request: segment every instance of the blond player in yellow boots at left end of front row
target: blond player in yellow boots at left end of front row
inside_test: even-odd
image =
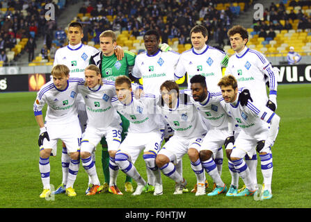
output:
[[[76,196],[73,189],[79,171],[79,149],[81,128],[77,112],[77,88],[82,79],[69,78],[70,69],[56,65],[51,70],[53,80],[41,87],[33,104],[35,120],[40,127],[38,144],[40,146],[39,169],[43,183],[40,198],[51,195],[49,156],[57,149],[61,139],[67,147],[70,163],[64,187],[67,196]],[[47,104],[47,114],[43,121],[42,108]]]

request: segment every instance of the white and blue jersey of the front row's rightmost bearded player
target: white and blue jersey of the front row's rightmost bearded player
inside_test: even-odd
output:
[[[258,140],[266,139],[268,136],[269,125],[275,112],[267,108],[265,105],[248,101],[247,105],[242,106],[239,101],[239,94],[234,103],[225,103],[225,111],[234,119],[234,124],[250,137],[256,137]]]

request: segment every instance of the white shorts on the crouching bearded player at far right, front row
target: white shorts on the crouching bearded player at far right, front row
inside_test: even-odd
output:
[[[264,130],[256,135],[247,135],[244,130],[241,130],[239,136],[235,139],[231,157],[244,158],[246,154],[249,157],[253,157],[256,154],[257,142],[265,140],[267,137],[268,130]],[[264,152],[269,153],[270,150],[267,149]]]

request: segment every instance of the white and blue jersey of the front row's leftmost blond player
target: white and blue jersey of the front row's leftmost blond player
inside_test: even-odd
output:
[[[78,84],[82,81],[81,78],[69,78],[64,90],[57,89],[52,80],[43,85],[33,104],[35,116],[42,114],[42,108],[47,104],[46,122],[70,123],[78,119],[76,99]]]

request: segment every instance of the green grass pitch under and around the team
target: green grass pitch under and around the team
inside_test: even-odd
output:
[[[288,208],[311,207],[311,85],[279,85],[277,114],[281,117],[280,131],[273,146],[273,180],[271,200],[259,201],[253,197],[228,198],[221,194],[214,197],[194,194],[173,195],[174,182],[162,174],[164,194],[152,193],[131,196],[124,191],[125,174],[119,171],[118,186],[124,196],[98,194],[86,196],[88,177],[80,165],[74,188],[77,196],[70,198],[65,194],[54,199],[39,198],[42,182],[38,167],[39,128],[33,116],[35,92],[16,92],[0,94],[0,207],[1,208]],[[101,148],[97,146],[96,164],[99,179],[104,181],[101,162]],[[50,157],[51,184],[57,187],[61,183],[61,143],[58,143],[58,155]],[[145,164],[142,156],[136,167],[146,179]],[[189,190],[196,183],[187,155],[183,159],[184,178]],[[230,185],[227,158],[223,160],[223,181]],[[257,169],[258,182],[262,183],[260,160]],[[209,190],[212,180],[207,175]],[[242,181],[240,181],[240,187]],[[136,182],[134,182],[136,188]]]

